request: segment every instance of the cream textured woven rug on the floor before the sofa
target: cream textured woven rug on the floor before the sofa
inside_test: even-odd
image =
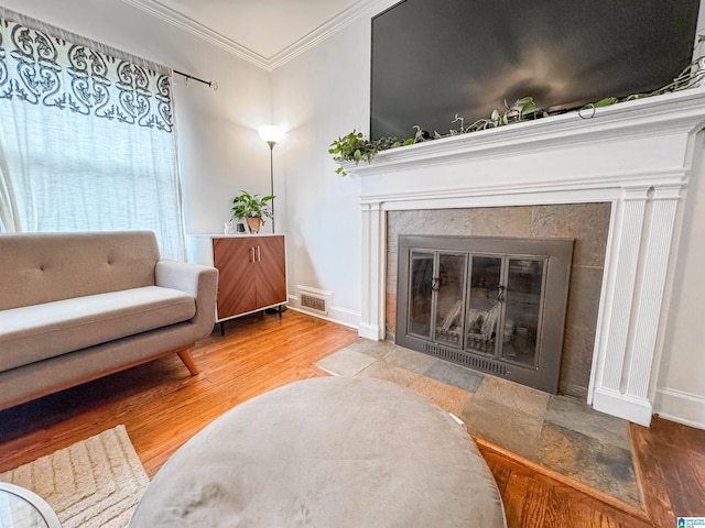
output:
[[[149,477],[124,426],[0,473],[0,481],[33,491],[63,528],[124,528]]]

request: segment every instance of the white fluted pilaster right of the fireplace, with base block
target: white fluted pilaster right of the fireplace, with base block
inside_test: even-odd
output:
[[[618,261],[606,267],[612,275],[606,280],[614,283],[603,298],[603,304],[612,299],[603,326],[609,338],[592,403],[638,424],[648,425],[653,411],[649,382],[681,188],[625,191],[617,211],[620,240],[612,240]]]

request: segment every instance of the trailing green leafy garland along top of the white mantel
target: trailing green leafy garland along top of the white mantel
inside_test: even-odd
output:
[[[702,42],[705,42],[705,35],[698,35],[696,46]],[[648,97],[685,90],[698,86],[703,79],[705,79],[705,56],[699,56],[688,64],[671,82],[658,90],[649,94],[632,94],[622,98],[606,97],[597,102],[590,102],[573,111],[577,112],[577,114],[583,119],[590,119],[595,116],[596,108],[609,107],[611,105],[617,105],[618,102],[633,101],[636,99],[644,99]],[[588,112],[590,113],[588,114]],[[377,153],[388,151],[390,148],[397,148],[399,146],[411,145],[424,141],[440,140],[452,135],[467,134],[478,130],[496,129],[498,127],[547,118],[560,113],[566,112],[564,110],[546,112],[536,106],[533,97],[522,97],[514,101],[513,105],[508,105],[507,101],[505,101],[503,112],[494,110],[489,118],[478,119],[468,127],[465,127],[465,120],[456,113],[452,123],[460,124],[457,129],[449,130],[447,134],[440,134],[437,131],[434,131],[433,135],[430,135],[421,127],[415,124],[413,127],[415,131],[413,138],[403,140],[398,138],[380,138],[379,140],[370,140],[362,134],[362,132],[356,129],[349,134],[338,138],[330,143],[328,154],[333,156],[333,161],[336,163],[354,162],[357,165],[361,161],[370,162]],[[339,166],[335,172],[340,176],[347,176],[348,174],[343,166]]]

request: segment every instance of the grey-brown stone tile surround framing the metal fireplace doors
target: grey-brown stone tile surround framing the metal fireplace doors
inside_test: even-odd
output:
[[[558,393],[587,400],[611,204],[390,210],[384,216],[387,339],[397,334],[401,235],[574,240]]]

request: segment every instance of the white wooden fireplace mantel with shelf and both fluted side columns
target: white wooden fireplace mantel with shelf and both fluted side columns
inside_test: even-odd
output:
[[[592,119],[572,112],[346,165],[361,180],[360,336],[384,338],[388,211],[610,202],[587,403],[649,426],[704,125],[705,91],[696,88],[597,109]]]

